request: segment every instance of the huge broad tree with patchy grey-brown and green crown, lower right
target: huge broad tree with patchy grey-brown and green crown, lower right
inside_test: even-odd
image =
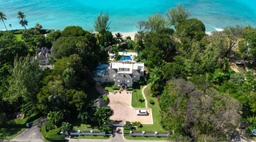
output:
[[[242,105],[214,89],[202,91],[190,81],[169,81],[160,100],[163,127],[189,140],[222,141],[238,127]]]

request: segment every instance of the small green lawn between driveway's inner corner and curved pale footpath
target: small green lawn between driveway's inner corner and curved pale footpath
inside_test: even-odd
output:
[[[134,108],[145,108],[145,101],[142,97],[142,88],[143,86],[140,86],[140,89],[137,89],[136,92],[133,92],[131,106]]]

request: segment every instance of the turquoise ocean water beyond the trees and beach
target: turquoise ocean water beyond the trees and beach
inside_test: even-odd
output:
[[[110,15],[111,31],[134,32],[138,21],[153,14],[166,16],[166,11],[179,3],[190,10],[190,18],[202,20],[208,32],[226,26],[256,26],[255,0],[0,0],[0,11],[6,14],[6,26],[12,30],[22,29],[19,10],[26,15],[28,28],[38,22],[44,29],[82,26],[91,31],[102,11]],[[0,30],[5,30],[2,22]]]

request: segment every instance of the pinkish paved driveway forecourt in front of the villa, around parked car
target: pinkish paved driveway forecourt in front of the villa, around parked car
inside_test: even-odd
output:
[[[114,120],[121,124],[126,121],[135,122],[139,121],[142,124],[153,124],[153,117],[151,108],[132,108],[131,107],[131,93],[109,93],[108,97],[110,99],[110,108],[113,109],[114,114],[110,116],[110,120]],[[137,116],[136,112],[138,109],[147,110],[149,115],[147,116]]]

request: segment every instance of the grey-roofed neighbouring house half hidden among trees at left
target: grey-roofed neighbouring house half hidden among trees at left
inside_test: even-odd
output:
[[[38,49],[38,51],[40,51],[38,53],[38,56],[36,57],[36,59],[38,59],[38,61],[40,62],[40,65],[49,65],[49,59],[48,57],[50,57],[50,49],[47,48],[42,48],[42,49]]]

